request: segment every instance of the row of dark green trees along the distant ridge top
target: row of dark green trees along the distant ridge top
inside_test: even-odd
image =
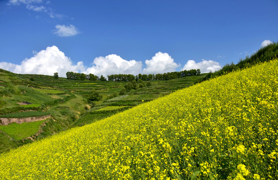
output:
[[[180,78],[184,76],[190,76],[190,75],[199,75],[200,69],[190,69],[190,70],[182,70],[182,71],[175,71],[175,72],[165,72],[165,73],[157,73],[157,74],[111,74],[107,75],[108,81],[132,81],[132,80],[170,80],[174,78]],[[76,80],[102,80],[105,81],[106,78],[101,75],[98,77],[97,75],[94,75],[92,73],[90,74],[84,74],[84,73],[78,73],[78,72],[66,72],[66,78],[67,79],[76,79]]]

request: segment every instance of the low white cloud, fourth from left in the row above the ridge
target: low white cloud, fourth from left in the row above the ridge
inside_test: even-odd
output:
[[[188,60],[181,70],[200,69],[201,73],[206,73],[209,71],[214,72],[220,68],[221,65],[218,62],[202,59],[202,61],[197,63],[194,60]]]

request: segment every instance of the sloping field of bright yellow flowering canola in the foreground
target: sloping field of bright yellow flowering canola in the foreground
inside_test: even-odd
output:
[[[0,154],[0,179],[278,179],[278,59]]]

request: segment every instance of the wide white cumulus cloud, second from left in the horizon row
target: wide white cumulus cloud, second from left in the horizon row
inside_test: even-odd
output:
[[[119,55],[110,54],[105,57],[95,57],[93,65],[86,69],[86,74],[93,73],[96,75],[110,74],[138,74],[141,72],[142,62],[136,60],[125,60]]]

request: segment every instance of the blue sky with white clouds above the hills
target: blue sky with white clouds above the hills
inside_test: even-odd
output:
[[[277,41],[277,8],[278,0],[0,0],[0,68],[214,71]]]

